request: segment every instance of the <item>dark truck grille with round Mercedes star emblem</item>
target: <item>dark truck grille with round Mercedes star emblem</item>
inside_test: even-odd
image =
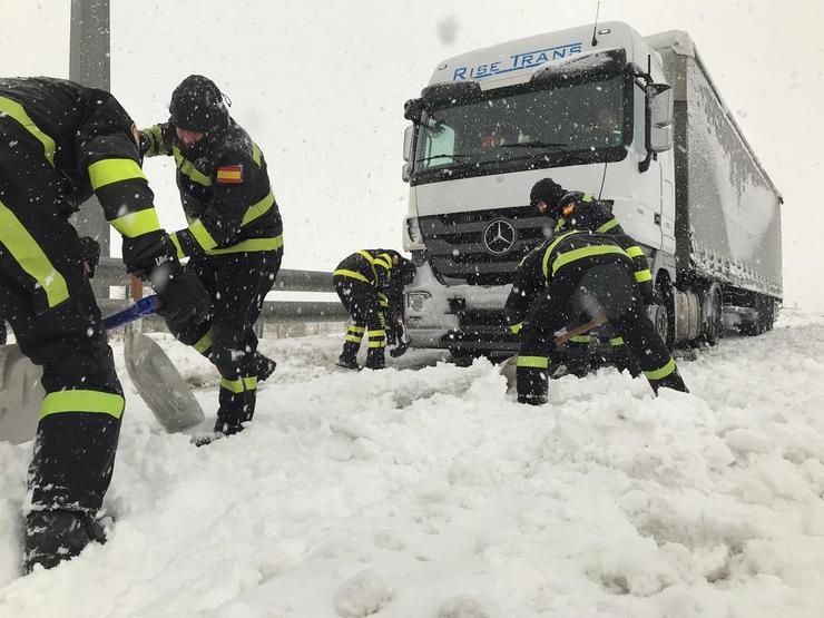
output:
[[[499,222],[500,227],[492,225]],[[523,255],[550,232],[551,220],[519,206],[432,215],[418,223],[436,276],[470,285],[504,285],[514,279]]]

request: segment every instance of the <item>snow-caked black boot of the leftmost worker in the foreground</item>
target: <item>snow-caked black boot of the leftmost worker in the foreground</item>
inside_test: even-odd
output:
[[[106,542],[102,526],[90,514],[79,511],[32,511],[26,516],[23,572],[35,565],[45,569],[78,556],[91,543]]]

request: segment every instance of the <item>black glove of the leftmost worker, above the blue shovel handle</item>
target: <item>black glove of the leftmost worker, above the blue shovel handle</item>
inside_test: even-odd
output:
[[[195,275],[184,271],[177,258],[153,266],[148,278],[160,300],[157,313],[169,322],[199,324],[208,317],[208,292]]]

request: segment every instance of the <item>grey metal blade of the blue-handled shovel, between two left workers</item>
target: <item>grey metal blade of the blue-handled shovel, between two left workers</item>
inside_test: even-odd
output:
[[[157,342],[127,331],[125,356],[131,382],[166,431],[184,431],[205,420],[189,385]]]

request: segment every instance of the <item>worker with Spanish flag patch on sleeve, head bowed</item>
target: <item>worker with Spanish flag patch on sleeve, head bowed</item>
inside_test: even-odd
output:
[[[186,272],[212,297],[208,322],[169,324],[169,330],[220,374],[214,439],[237,433],[252,420],[257,383],[275,369],[257,352],[254,324],[281,268],[283,223],[263,153],[229,116],[210,79],[184,79],[169,111],[168,122],[140,131],[140,149],[175,158],[189,225],[171,239],[178,257],[189,256]]]

